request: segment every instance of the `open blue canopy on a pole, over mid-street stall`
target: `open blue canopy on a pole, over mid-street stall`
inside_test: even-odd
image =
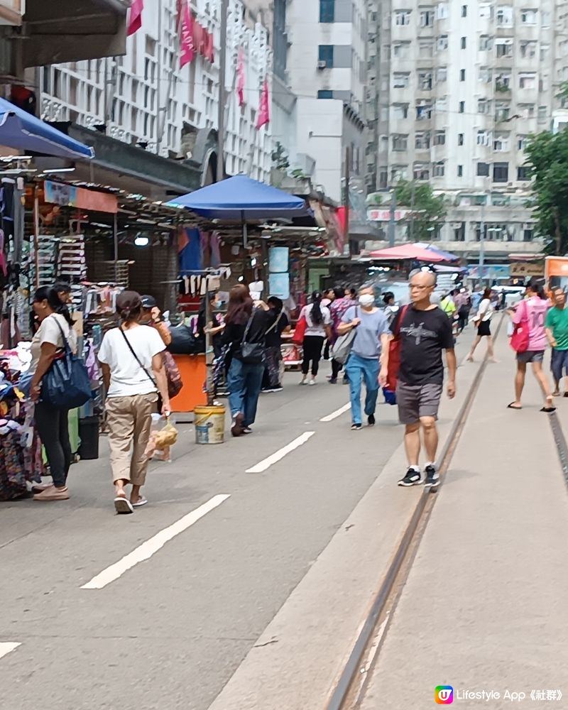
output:
[[[167,204],[170,207],[187,207],[209,219],[240,222],[271,217],[292,219],[307,214],[306,204],[300,197],[288,195],[288,192],[247,175],[234,175],[233,178],[214,182],[201,190],[175,197]]]

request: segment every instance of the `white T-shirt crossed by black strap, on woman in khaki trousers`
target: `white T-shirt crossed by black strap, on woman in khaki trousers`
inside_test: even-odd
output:
[[[139,325],[123,331],[138,360],[153,376],[152,358],[165,350],[160,334],[155,328]],[[130,397],[132,395],[147,395],[156,388],[143,371],[129,346],[124,341],[120,328],[113,328],[104,335],[99,350],[99,362],[111,368],[111,386],[108,397]]]

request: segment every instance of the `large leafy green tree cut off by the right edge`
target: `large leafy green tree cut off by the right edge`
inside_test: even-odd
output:
[[[568,250],[568,131],[532,136],[526,153],[538,231],[551,238],[545,251],[563,254]]]

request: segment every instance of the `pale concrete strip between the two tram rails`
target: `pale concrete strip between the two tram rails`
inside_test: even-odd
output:
[[[513,400],[514,355],[497,344],[388,628],[362,710],[568,706],[568,496],[542,395],[528,373]],[[567,420],[568,400],[557,399]],[[532,689],[561,690],[557,702]],[[498,692],[490,701],[464,690]]]

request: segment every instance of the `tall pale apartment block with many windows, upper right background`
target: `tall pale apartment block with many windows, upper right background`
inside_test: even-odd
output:
[[[557,97],[568,79],[564,14],[553,0],[378,6],[368,184],[419,180],[444,192],[439,238],[454,251],[476,252],[482,224],[498,243],[488,253],[535,249],[524,150],[531,133],[566,120]]]

